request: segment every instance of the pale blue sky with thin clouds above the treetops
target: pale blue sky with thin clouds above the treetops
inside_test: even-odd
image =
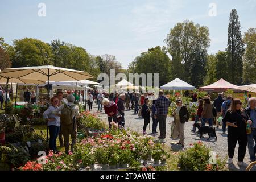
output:
[[[38,16],[38,4],[45,3],[46,16]],[[216,16],[209,16],[209,4],[216,4]],[[93,55],[114,55],[127,65],[141,52],[165,46],[170,28],[185,19],[209,27],[208,53],[224,50],[229,14],[240,16],[242,33],[256,26],[256,0],[1,0],[0,36],[9,44],[31,37],[51,42],[60,39],[86,49]]]

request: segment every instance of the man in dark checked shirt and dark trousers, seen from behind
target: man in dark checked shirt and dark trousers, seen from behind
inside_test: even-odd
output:
[[[166,138],[166,118],[168,114],[168,108],[170,106],[170,100],[164,97],[163,91],[159,91],[159,97],[155,101],[156,117],[159,122],[160,136],[159,139]]]

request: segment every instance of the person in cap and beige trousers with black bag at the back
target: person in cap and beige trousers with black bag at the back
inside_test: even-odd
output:
[[[185,129],[185,122],[188,122],[190,113],[186,106],[182,105],[182,99],[180,97],[176,98],[176,110],[174,111],[174,123],[177,130],[177,135],[179,136],[179,142],[177,144],[181,144],[184,147],[184,129]]]

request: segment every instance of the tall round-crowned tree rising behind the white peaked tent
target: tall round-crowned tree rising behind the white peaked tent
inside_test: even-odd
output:
[[[202,51],[200,54],[204,54],[209,47],[209,28],[185,20],[182,23],[177,23],[164,41],[171,56],[181,55],[184,80],[191,83],[193,56],[199,51]],[[199,47],[200,49],[198,49]]]

